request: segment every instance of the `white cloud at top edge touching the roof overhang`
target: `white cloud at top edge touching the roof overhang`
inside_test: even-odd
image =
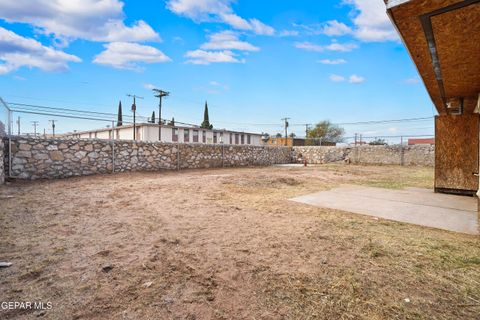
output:
[[[344,0],[352,5],[355,16],[353,34],[365,42],[398,41],[399,37],[387,16],[385,4],[378,0]]]

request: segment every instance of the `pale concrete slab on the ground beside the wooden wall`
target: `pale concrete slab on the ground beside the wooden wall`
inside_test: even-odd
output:
[[[479,234],[477,199],[429,189],[342,186],[290,199],[317,207],[468,234]]]

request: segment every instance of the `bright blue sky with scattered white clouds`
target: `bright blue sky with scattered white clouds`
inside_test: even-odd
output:
[[[300,124],[433,116],[382,0],[0,0],[0,96],[141,115],[171,92],[164,118],[281,132]],[[40,130],[51,117],[22,114]],[[104,126],[58,119],[69,131]],[[298,124],[298,126],[297,126]],[[433,121],[345,125],[347,135],[431,134]]]

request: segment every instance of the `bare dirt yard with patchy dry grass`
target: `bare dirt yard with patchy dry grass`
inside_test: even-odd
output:
[[[479,319],[478,237],[287,199],[433,169],[128,173],[0,188],[2,319]],[[13,196],[13,197],[10,197]]]

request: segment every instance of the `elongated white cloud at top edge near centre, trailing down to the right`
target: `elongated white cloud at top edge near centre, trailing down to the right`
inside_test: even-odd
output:
[[[197,22],[222,22],[237,30],[252,31],[260,35],[275,33],[275,29],[257,19],[246,20],[235,14],[232,2],[232,0],[169,0],[167,8]]]

